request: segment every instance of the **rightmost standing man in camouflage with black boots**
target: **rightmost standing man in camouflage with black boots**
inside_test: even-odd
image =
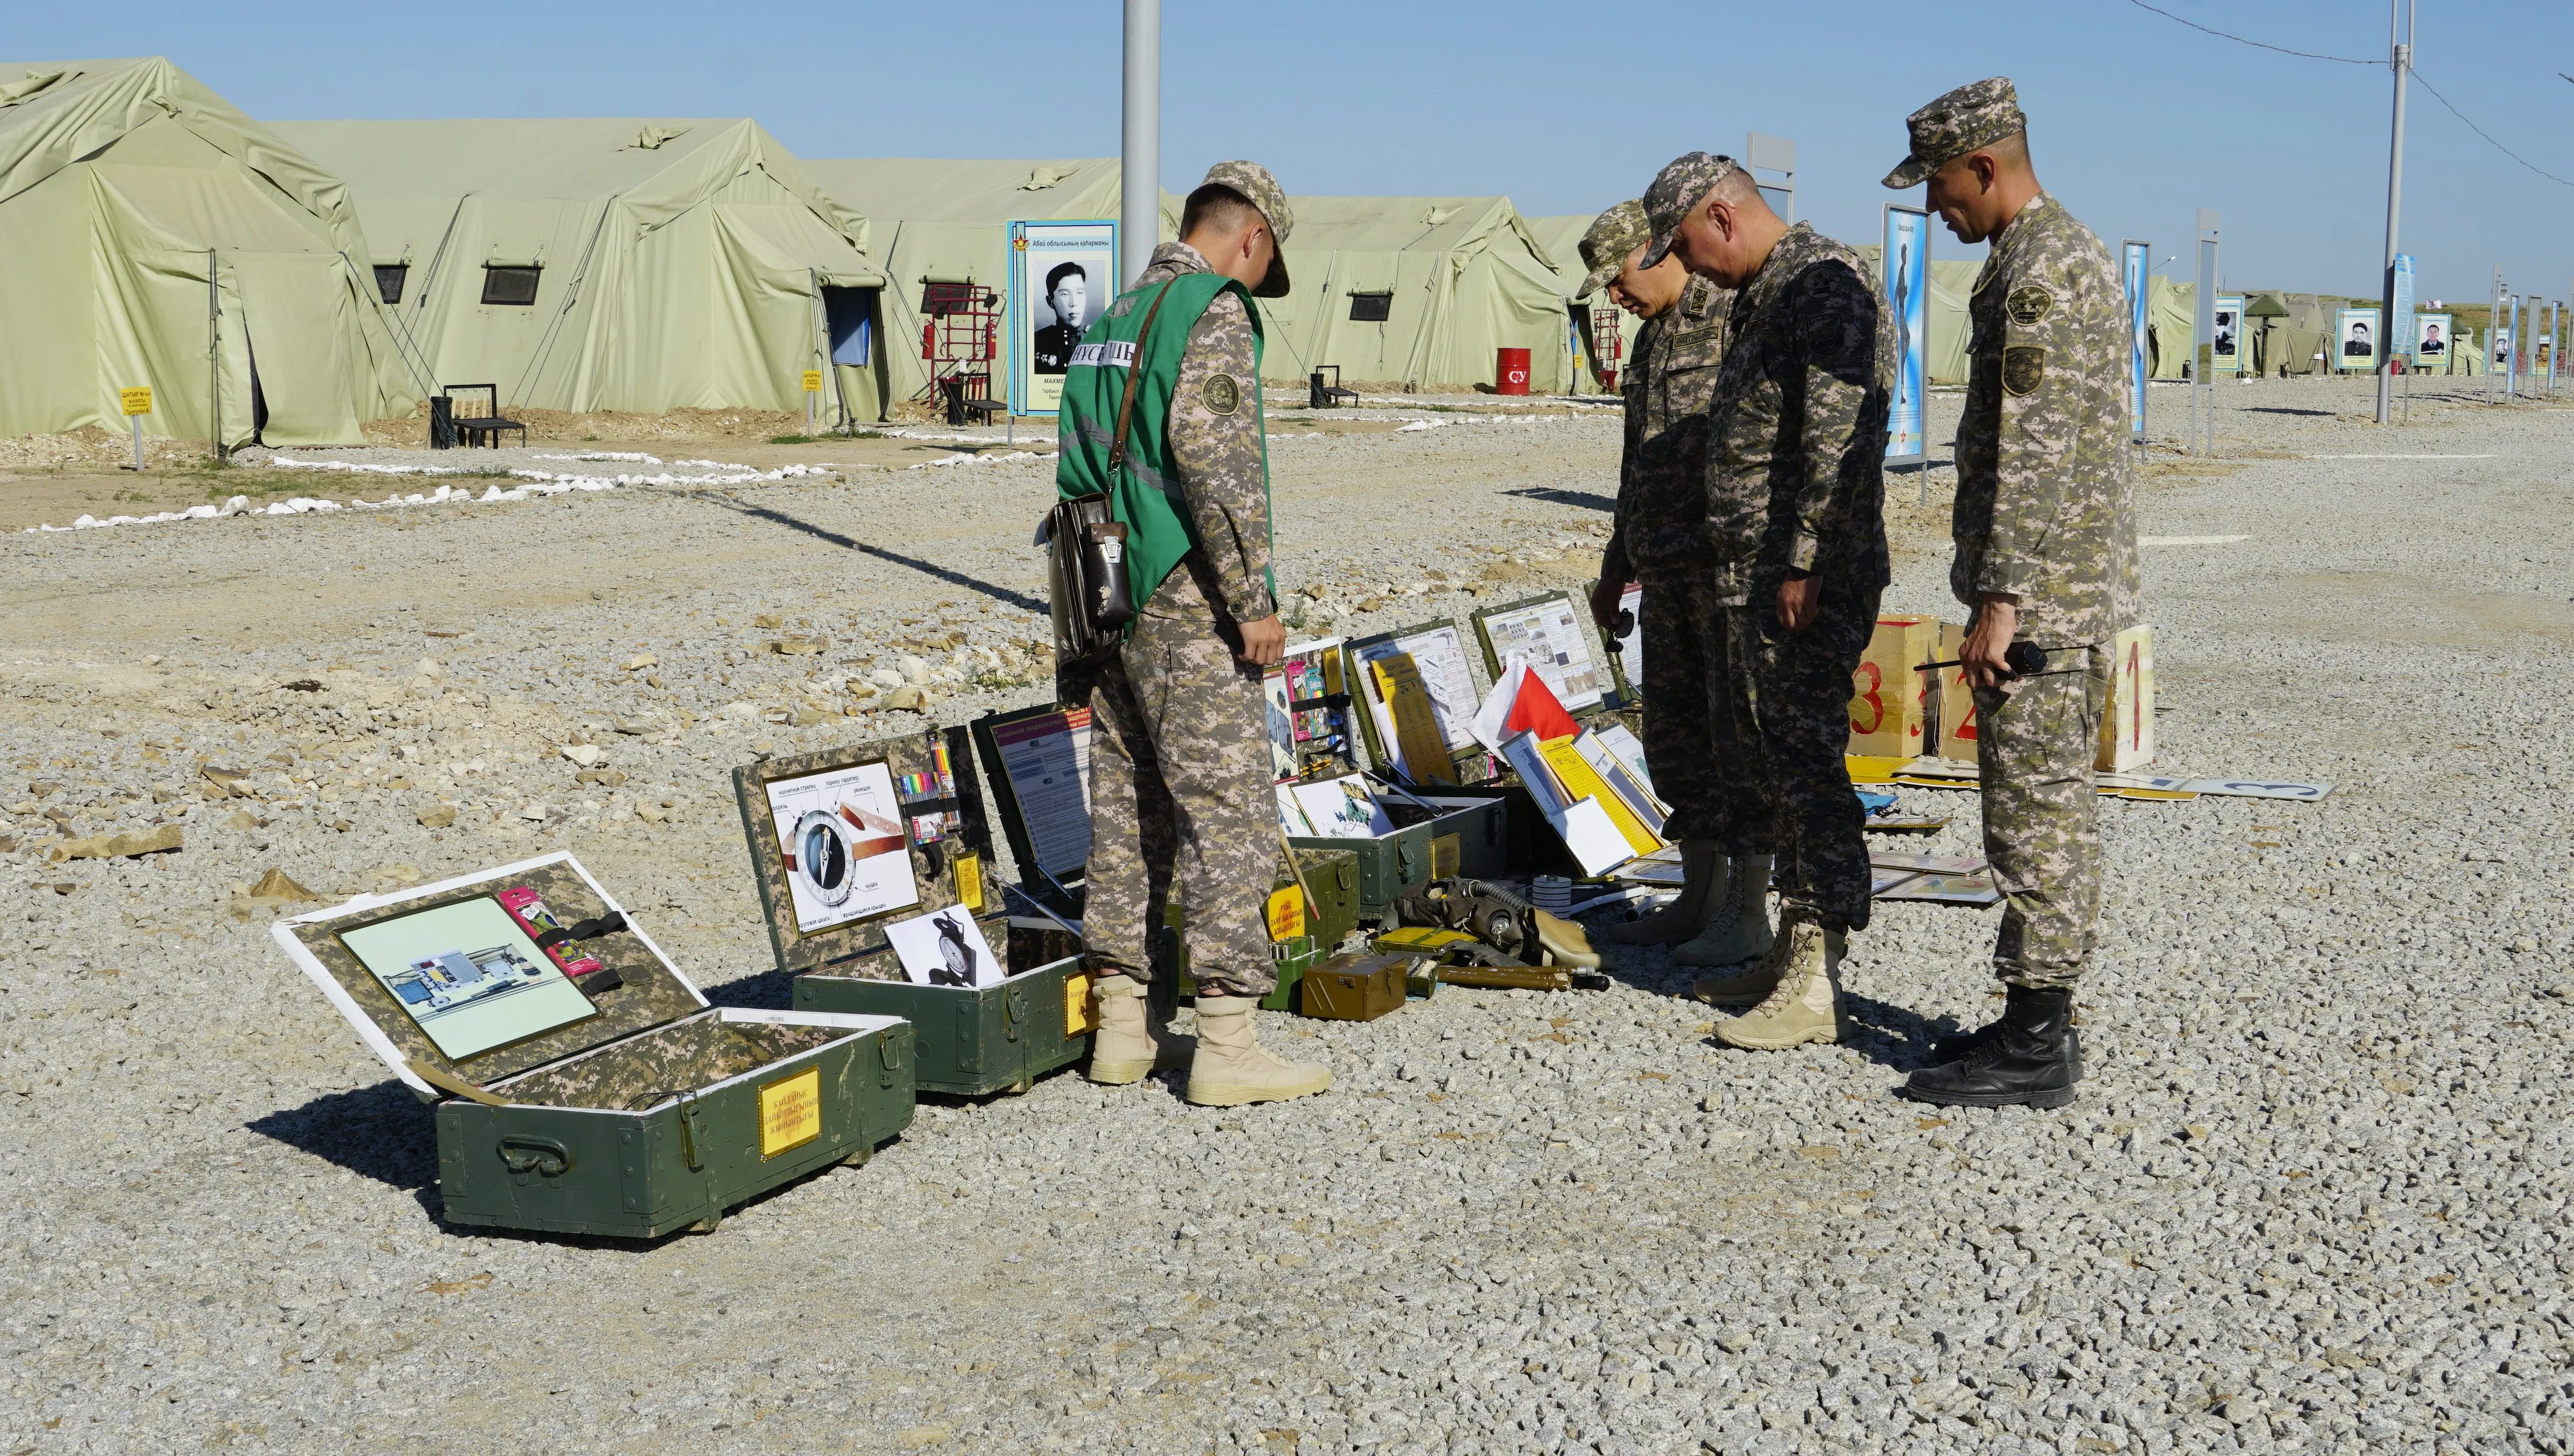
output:
[[[1967,314],[1956,427],[1956,558],[1972,610],[1985,857],[2008,905],[1992,947],[2003,1019],[1941,1047],[1905,1093],[1961,1106],[2064,1106],[2082,1078],[2072,988],[2100,913],[2093,795],[2108,646],[2136,620],[2136,486],[2126,437],[2129,322],[2111,255],[2028,165],[2028,118],[2005,77],[1910,116],[1889,188],[1928,180],[1961,242],[1992,242]],[[2013,643],[2046,666],[2015,674]]]

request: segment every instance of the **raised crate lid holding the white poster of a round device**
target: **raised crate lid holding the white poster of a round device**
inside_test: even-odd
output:
[[[891,921],[991,908],[991,836],[963,728],[741,764],[734,800],[788,975],[888,949]]]

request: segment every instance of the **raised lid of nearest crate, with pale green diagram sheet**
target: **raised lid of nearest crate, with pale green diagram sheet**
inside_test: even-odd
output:
[[[623,916],[618,931],[564,942],[564,957],[597,960],[623,985],[592,996],[579,985],[600,972],[564,975],[530,936],[523,893],[566,929]],[[270,934],[358,1039],[425,1098],[445,1093],[420,1068],[486,1086],[705,1008],[705,996],[566,851],[358,895],[288,916]],[[497,985],[481,988],[486,980]]]

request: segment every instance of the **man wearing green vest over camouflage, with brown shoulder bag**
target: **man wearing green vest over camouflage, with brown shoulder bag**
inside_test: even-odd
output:
[[[1140,602],[1120,653],[1068,669],[1063,702],[1091,707],[1091,859],[1081,913],[1091,962],[1094,1083],[1176,1065],[1145,1014],[1148,944],[1184,908],[1197,980],[1189,1101],[1310,1096],[1328,1068],[1279,1062],[1251,1011],[1277,985],[1266,898],[1277,869],[1269,705],[1261,669],[1287,651],[1269,571],[1269,445],[1261,314],[1287,293],[1279,244],[1295,216],[1266,167],[1218,162],[1189,193],[1179,242],[1153,250],[1073,350],[1063,378],[1063,496],[1107,491],[1127,527]],[[1109,468],[1135,370],[1127,455]]]

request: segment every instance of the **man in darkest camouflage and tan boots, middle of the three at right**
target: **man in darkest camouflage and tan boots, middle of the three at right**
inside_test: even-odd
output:
[[[1840,957],[1869,924],[1869,844],[1843,759],[1851,674],[1887,587],[1884,448],[1894,378],[1876,291],[1848,247],[1784,224],[1730,157],[1691,152],[1645,193],[1653,247],[1735,288],[1709,404],[1709,589],[1755,725],[1766,823],[1784,862],[1779,934],[1753,970],[1701,978],[1750,1006],[1717,1037],[1799,1047],[1843,1032]]]

